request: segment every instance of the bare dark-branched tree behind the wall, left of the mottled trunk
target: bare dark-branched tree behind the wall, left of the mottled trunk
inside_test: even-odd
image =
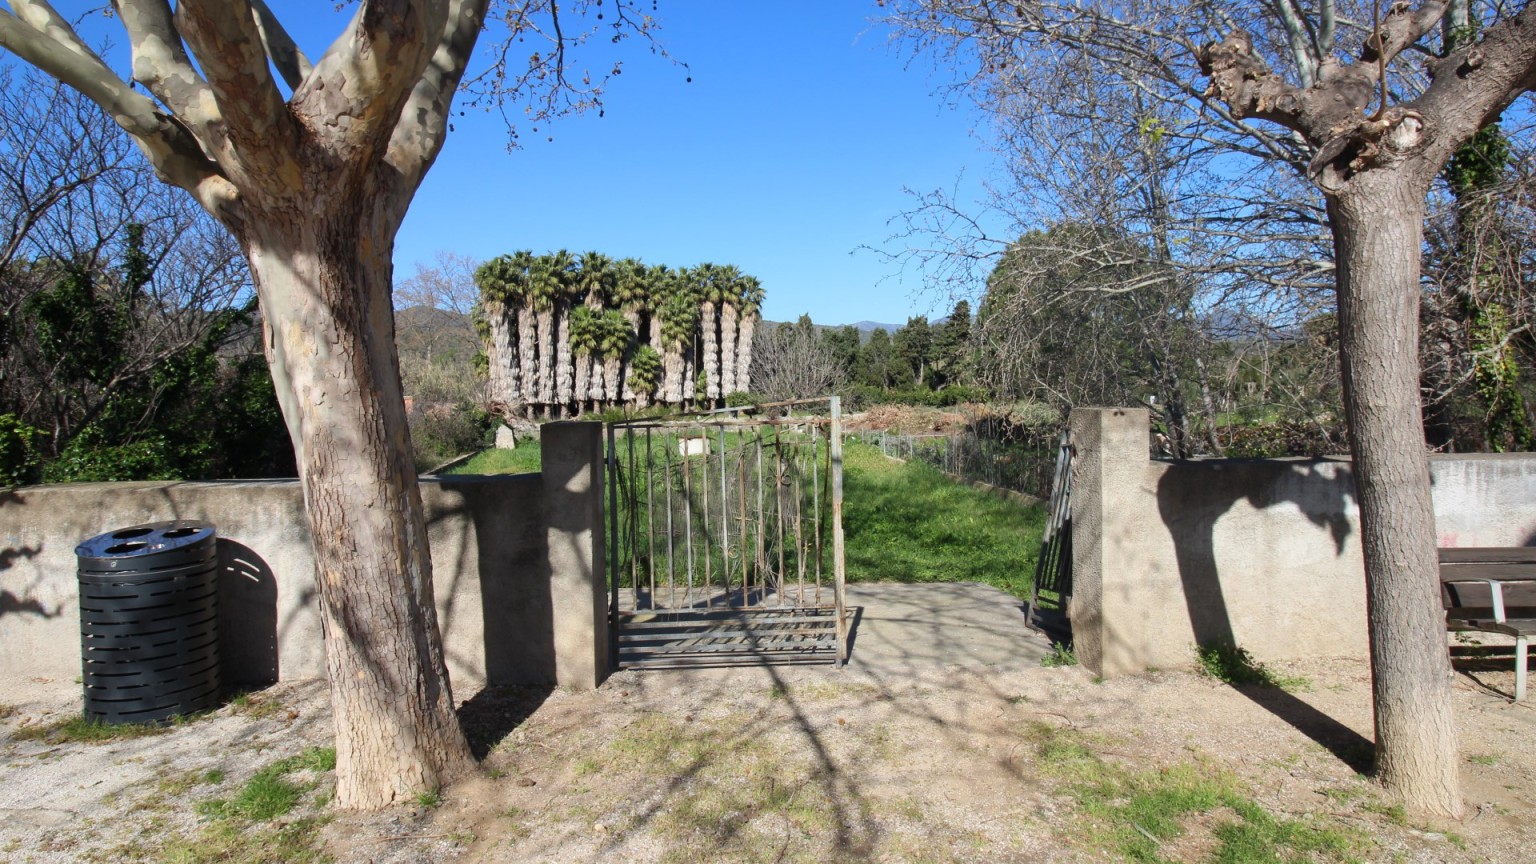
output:
[[[143,432],[166,397],[155,372],[240,337],[227,314],[249,297],[229,234],[157,183],[94,105],[0,69],[0,406],[46,430],[52,457],[129,389],[147,398],[124,432]],[[114,318],[114,337],[84,332],[89,315]]]

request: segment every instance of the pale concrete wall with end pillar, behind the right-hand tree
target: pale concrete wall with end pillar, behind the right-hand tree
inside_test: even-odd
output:
[[[1352,463],[1149,458],[1146,409],[1072,412],[1072,635],[1100,675],[1366,656]],[[1536,546],[1536,458],[1430,457],[1441,546]]]

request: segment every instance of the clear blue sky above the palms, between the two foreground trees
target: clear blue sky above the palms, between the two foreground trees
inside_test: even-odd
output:
[[[857,249],[897,251],[886,223],[911,204],[903,188],[951,188],[963,175],[975,194],[991,157],[971,134],[974,114],[935,95],[945,78],[929,63],[906,69],[869,22],[876,11],[856,0],[662,0],[660,40],[688,69],[630,58],[604,117],[521,129],[511,154],[499,115],[455,118],[399,232],[398,274],[438,249],[596,249],[737,264],[763,281],[770,320],[946,314],[948,295],[925,292],[919,274]],[[339,23],[309,23],[313,40],[301,38],[318,55]]]

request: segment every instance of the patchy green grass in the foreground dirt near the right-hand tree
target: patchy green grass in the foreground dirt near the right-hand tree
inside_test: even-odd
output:
[[[1218,766],[1195,761],[1132,770],[1100,759],[1075,730],[1032,723],[1041,773],[1063,783],[1077,803],[1094,846],[1109,846],[1130,861],[1157,862],[1163,844],[1203,826],[1221,864],[1350,861],[1362,836],[1319,819],[1276,816],[1255,803],[1243,783]]]

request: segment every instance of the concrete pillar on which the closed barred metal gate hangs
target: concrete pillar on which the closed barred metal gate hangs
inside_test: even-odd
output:
[[[545,423],[539,446],[554,683],[590,690],[608,676],[602,424]]]

